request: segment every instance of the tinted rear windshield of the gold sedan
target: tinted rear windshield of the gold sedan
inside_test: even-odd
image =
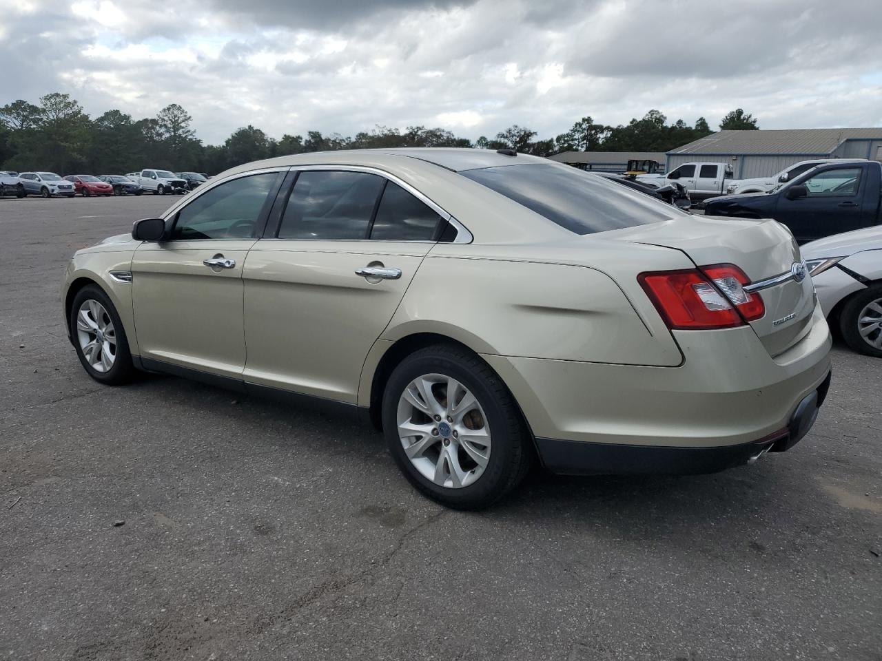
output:
[[[576,167],[553,163],[460,171],[575,234],[648,225],[686,215],[671,204]]]

